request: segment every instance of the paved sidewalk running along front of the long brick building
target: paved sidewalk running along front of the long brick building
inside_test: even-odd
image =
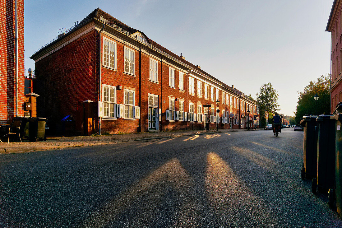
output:
[[[251,129],[249,131],[264,130],[263,128]],[[82,147],[89,145],[100,145],[109,143],[119,143],[128,141],[138,141],[147,139],[164,139],[164,138],[177,138],[183,136],[193,135],[206,135],[206,134],[218,134],[222,132],[234,132],[234,131],[248,131],[244,129],[220,129],[216,130],[180,130],[180,131],[166,131],[159,133],[137,133],[137,134],[119,134],[110,136],[74,136],[74,137],[51,137],[47,141],[29,142],[27,140],[23,142],[3,142],[0,143],[0,153],[16,153],[35,150],[50,150],[61,149],[67,147]]]

